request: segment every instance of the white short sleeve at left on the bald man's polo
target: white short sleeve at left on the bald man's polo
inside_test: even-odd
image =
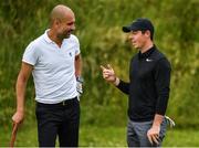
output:
[[[38,50],[35,49],[35,45],[33,44],[33,42],[31,42],[24,53],[23,53],[23,57],[22,57],[22,61],[28,63],[28,64],[31,64],[31,65],[35,65],[36,61],[38,61]]]

